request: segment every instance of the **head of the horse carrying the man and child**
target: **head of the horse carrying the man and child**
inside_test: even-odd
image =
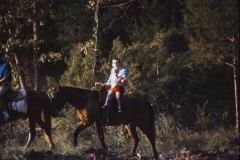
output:
[[[52,116],[57,117],[59,115],[59,112],[66,104],[66,99],[61,91],[60,85],[57,87],[52,86],[51,87],[51,97],[52,97]]]

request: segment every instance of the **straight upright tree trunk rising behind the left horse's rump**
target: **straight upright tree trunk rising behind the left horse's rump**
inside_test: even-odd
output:
[[[33,65],[34,65],[34,90],[39,90],[38,71],[38,33],[37,33],[37,7],[36,0],[33,2]]]

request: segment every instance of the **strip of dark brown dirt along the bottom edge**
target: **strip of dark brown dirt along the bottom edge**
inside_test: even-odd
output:
[[[140,155],[139,155],[140,156]],[[238,155],[239,156],[239,155]],[[164,156],[159,155],[159,160],[238,160],[237,155],[231,155],[227,152],[219,151],[201,151],[201,150],[183,150],[175,156]],[[38,152],[30,151],[25,153],[24,158],[27,160],[151,160],[145,156],[139,157],[128,157],[127,154],[121,153],[107,153],[103,149],[89,148],[81,155],[55,155],[51,151]]]

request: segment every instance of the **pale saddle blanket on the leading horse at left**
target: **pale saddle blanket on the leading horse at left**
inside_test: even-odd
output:
[[[26,90],[21,89],[18,91],[17,97],[14,97],[11,102],[8,103],[9,109],[22,112],[22,113],[27,113],[27,94]]]

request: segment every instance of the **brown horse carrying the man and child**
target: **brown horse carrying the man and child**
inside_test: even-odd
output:
[[[53,116],[57,116],[60,110],[68,102],[77,109],[78,117],[81,119],[79,126],[74,132],[74,145],[77,145],[78,134],[94,125],[97,129],[98,137],[102,143],[102,147],[107,149],[104,142],[104,136],[101,135],[101,118],[102,118],[102,103],[107,95],[105,87],[100,87],[98,90],[87,90],[75,87],[58,86],[52,87],[52,109]],[[158,154],[155,146],[154,132],[154,115],[151,106],[146,106],[143,102],[130,98],[131,106],[122,105],[122,112],[118,113],[117,107],[113,109],[109,116],[109,126],[124,124],[131,139],[134,142],[132,156],[135,156],[139,138],[136,132],[138,127],[149,139],[154,157],[157,159]]]

